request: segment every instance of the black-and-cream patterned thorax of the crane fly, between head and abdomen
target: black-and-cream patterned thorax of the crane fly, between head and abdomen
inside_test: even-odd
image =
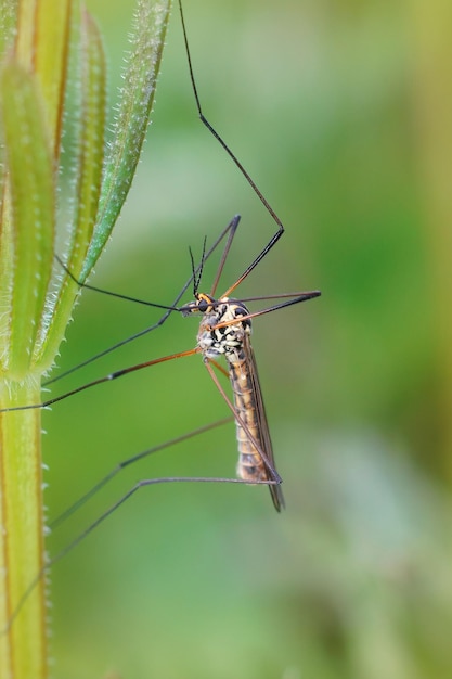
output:
[[[206,298],[207,295],[203,295],[204,302]],[[248,316],[248,309],[243,303],[228,297],[218,300],[208,299],[210,304],[203,311],[203,320],[197,334],[198,347],[207,358],[223,355],[229,361],[242,360],[244,358],[243,342],[245,335],[251,332],[251,321],[249,318],[240,319]]]

